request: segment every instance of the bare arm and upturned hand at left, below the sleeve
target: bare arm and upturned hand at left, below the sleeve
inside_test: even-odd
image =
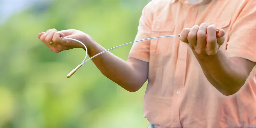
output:
[[[94,41],[91,36],[75,29],[63,31],[49,29],[38,35],[38,38],[44,42],[50,50],[56,53],[73,48],[84,49],[82,44],[62,39],[61,37],[73,38],[83,42],[88,49],[88,55],[90,57],[106,50]],[[53,44],[49,44],[51,42],[53,42]],[[93,58],[92,61],[104,76],[129,92],[138,91],[148,79],[148,62],[142,60],[129,58],[125,61],[111,52],[105,52]]]

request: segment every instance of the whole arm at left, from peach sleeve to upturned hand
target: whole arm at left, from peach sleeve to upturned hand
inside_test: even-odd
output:
[[[149,38],[151,35],[152,18],[149,11],[147,6],[145,6],[142,11],[135,40]],[[90,57],[106,50],[94,41],[91,36],[74,29],[62,31],[51,29],[38,35],[38,38],[56,53],[72,48],[83,48],[83,45],[75,41],[60,37],[80,40],[87,46],[87,53]],[[93,58],[92,61],[104,76],[108,77],[125,90],[135,92],[138,91],[148,79],[149,46],[150,41],[133,44],[127,61],[122,60],[111,52],[105,52]]]

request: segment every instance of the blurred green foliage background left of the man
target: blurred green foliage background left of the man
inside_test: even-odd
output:
[[[6,2],[6,1],[5,1]],[[10,1],[9,1],[10,2]],[[22,3],[24,2],[24,3]],[[29,0],[12,0],[16,8]],[[89,61],[83,49],[60,53],[37,38],[48,29],[78,29],[106,49],[132,42],[148,0],[34,0],[0,24],[1,128],[146,128],[146,84],[125,91]],[[1,14],[5,14],[2,10]],[[132,45],[111,51],[127,60]]]

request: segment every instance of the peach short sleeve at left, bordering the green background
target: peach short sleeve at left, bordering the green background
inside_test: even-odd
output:
[[[138,32],[135,37],[135,41],[150,38],[151,36],[151,22],[152,14],[150,13],[150,8],[146,5],[142,10],[142,15],[139,20]],[[129,52],[129,58],[135,58],[149,62],[149,50],[150,50],[150,40],[137,42],[132,44],[132,48]]]

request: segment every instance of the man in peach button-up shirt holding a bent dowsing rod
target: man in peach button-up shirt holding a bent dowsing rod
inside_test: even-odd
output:
[[[153,0],[135,40],[179,33],[133,44],[127,61],[110,52],[92,61],[130,92],[148,79],[143,115],[149,127],[255,127],[256,0]],[[38,35],[54,52],[83,47],[64,36],[82,41],[89,56],[105,50],[78,30]]]

